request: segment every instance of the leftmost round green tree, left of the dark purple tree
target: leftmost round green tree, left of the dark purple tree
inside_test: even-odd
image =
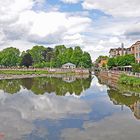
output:
[[[20,51],[9,47],[1,51],[0,64],[4,66],[17,66],[20,62]]]

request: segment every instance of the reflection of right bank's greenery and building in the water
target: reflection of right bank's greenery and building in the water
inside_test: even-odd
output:
[[[140,119],[140,89],[112,82],[104,77],[99,78],[100,83],[108,85],[108,96],[114,105],[129,107],[136,119]]]

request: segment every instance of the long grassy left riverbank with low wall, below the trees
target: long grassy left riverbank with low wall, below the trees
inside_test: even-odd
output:
[[[77,70],[77,71],[76,71]],[[0,69],[0,80],[4,79],[23,79],[23,78],[34,78],[34,77],[47,77],[53,76],[76,76],[84,77],[89,75],[88,71],[82,69],[73,70],[62,70],[62,69]]]

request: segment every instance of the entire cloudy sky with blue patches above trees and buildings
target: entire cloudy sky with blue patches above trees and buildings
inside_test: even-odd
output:
[[[80,46],[91,54],[140,40],[140,0],[0,0],[0,50]]]

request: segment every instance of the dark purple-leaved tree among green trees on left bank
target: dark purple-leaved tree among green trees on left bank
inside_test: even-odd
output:
[[[21,60],[21,65],[29,68],[29,66],[32,66],[32,64],[33,64],[32,56],[29,53],[26,53]]]

